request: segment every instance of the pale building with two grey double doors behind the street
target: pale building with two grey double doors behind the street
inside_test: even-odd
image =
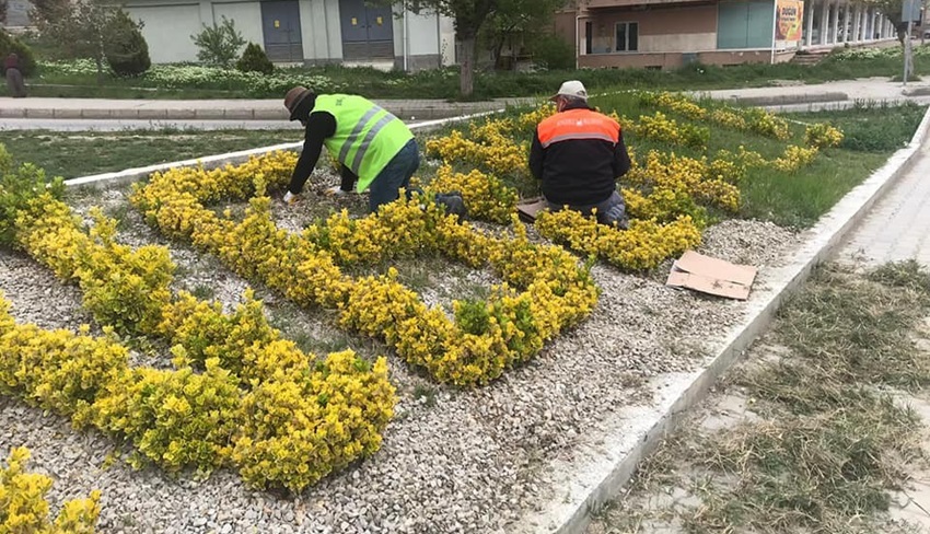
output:
[[[365,0],[128,0],[125,9],[144,23],[154,62],[196,61],[190,36],[223,18],[275,62],[419,70],[454,61],[450,19]]]

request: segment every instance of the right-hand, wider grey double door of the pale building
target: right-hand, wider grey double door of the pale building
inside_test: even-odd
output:
[[[339,0],[345,59],[394,59],[394,19],[390,7]]]

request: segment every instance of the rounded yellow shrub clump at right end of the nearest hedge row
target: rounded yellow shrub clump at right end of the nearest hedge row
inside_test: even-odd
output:
[[[298,492],[374,454],[393,404],[386,360],[371,365],[351,351],[330,353],[309,379],[267,380],[243,398],[233,461],[255,486]]]

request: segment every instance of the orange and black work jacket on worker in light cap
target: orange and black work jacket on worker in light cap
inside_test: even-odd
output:
[[[586,104],[568,107],[536,127],[530,171],[557,205],[593,206],[617,189],[630,170],[620,125]]]

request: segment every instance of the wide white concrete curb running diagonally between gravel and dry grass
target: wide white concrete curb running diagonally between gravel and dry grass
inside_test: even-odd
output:
[[[574,534],[584,532],[591,513],[600,510],[629,481],[637,465],[651,454],[681,421],[683,411],[699,403],[717,379],[730,368],[771,323],[775,313],[826,260],[865,217],[872,206],[904,175],[919,156],[930,129],[930,109],[923,115],[910,143],[895,152],[869,178],[849,191],[817,224],[804,232],[794,259],[776,269],[767,287],[754,291],[746,318],[716,344],[716,356],[694,373],[663,379],[652,407],[630,407],[609,423],[607,438],[596,445],[573,451],[579,458],[556,466],[553,495],[537,510],[524,515],[510,532]],[[655,385],[653,383],[653,385]]]

